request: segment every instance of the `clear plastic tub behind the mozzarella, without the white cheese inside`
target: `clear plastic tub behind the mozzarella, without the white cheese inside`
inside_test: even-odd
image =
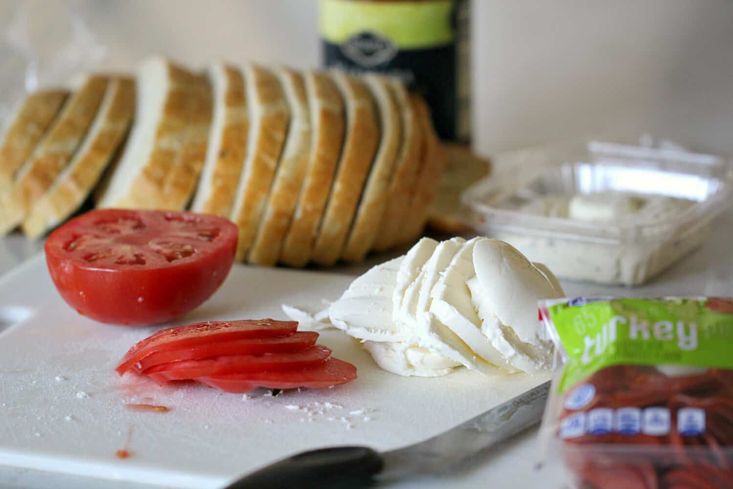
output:
[[[693,203],[648,221],[610,224],[522,210],[553,194],[607,191]],[[498,174],[468,188],[462,201],[477,231],[511,243],[563,279],[635,286],[703,243],[732,195],[733,166],[724,158],[590,141],[516,153]]]

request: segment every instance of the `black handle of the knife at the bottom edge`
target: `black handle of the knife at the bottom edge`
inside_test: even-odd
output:
[[[225,489],[368,488],[383,466],[381,455],[366,446],[335,446],[280,460]]]

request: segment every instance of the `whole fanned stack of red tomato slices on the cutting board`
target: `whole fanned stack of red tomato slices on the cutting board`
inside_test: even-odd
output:
[[[163,385],[194,380],[226,392],[258,387],[331,387],[356,378],[356,367],[316,345],[295,321],[238,320],[163,329],[137,342],[117,366]]]

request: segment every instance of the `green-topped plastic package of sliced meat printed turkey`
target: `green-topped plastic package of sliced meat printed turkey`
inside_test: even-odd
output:
[[[542,301],[540,431],[578,488],[733,488],[733,298]]]

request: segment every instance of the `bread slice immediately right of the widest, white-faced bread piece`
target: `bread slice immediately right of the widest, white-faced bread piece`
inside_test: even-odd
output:
[[[207,75],[213,87],[213,120],[191,210],[229,217],[247,148],[247,94],[237,67],[216,63]]]

